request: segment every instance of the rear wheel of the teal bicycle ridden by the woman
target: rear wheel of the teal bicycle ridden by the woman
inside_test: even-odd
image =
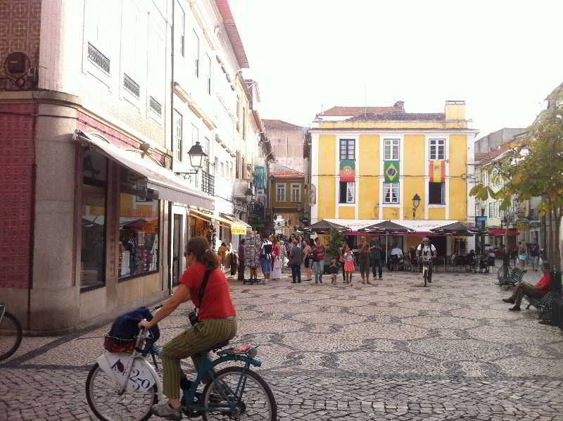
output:
[[[217,411],[203,412],[204,421],[277,420],[272,389],[257,373],[245,372],[243,367],[226,367],[217,372],[215,381],[203,389],[203,406],[217,408]]]

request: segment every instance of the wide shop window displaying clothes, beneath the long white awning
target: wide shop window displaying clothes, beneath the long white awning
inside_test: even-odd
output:
[[[158,271],[159,201],[146,179],[125,168],[120,173],[119,279]]]

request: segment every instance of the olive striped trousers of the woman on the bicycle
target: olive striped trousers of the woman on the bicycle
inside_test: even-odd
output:
[[[201,352],[236,335],[236,316],[203,320],[168,342],[160,354],[163,360],[164,394],[169,399],[180,397],[180,379],[184,376],[180,360],[191,357],[196,370],[203,363]],[[204,377],[205,379],[205,377]]]

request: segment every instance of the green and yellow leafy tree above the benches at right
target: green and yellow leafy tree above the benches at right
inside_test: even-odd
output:
[[[553,106],[543,111],[528,127],[525,137],[502,158],[481,168],[488,172],[492,184],[500,182],[494,191],[483,183],[476,184],[470,196],[479,201],[489,197],[500,200],[501,210],[507,210],[516,197],[519,201],[541,196],[540,213],[549,225],[548,258],[561,268],[559,224],[563,216],[563,88],[552,94]],[[560,103],[559,106],[555,105]]]

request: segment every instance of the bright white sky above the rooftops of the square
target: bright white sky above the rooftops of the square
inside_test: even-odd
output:
[[[562,0],[230,0],[262,118],[331,106],[443,112],[467,101],[479,137],[526,127],[563,82]]]

